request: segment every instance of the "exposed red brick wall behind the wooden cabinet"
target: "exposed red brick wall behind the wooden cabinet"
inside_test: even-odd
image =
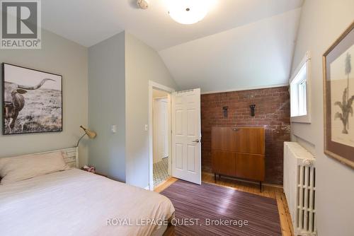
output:
[[[205,94],[202,109],[202,170],[211,171],[212,126],[265,126],[265,182],[282,184],[283,142],[290,141],[288,87]],[[249,105],[256,105],[251,117]],[[224,117],[222,107],[229,107]]]

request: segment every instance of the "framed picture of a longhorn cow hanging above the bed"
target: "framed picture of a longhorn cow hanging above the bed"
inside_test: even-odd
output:
[[[62,131],[62,76],[2,64],[3,134]]]

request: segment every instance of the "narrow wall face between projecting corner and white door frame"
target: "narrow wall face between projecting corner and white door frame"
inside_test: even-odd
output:
[[[177,88],[157,52],[125,33],[126,182],[149,185],[149,81]]]

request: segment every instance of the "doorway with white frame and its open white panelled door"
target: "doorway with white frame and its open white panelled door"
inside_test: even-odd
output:
[[[200,88],[176,92],[149,81],[150,190],[170,176],[201,184],[200,128]]]

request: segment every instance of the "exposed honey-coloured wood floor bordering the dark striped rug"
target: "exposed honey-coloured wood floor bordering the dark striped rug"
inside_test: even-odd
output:
[[[165,182],[159,184],[155,187],[154,191],[161,192],[171,184],[176,182],[178,179],[176,178],[169,178]],[[282,192],[282,188],[280,187],[272,187],[272,186],[263,186],[263,191],[259,191],[258,184],[253,184],[249,182],[241,182],[236,179],[229,179],[229,178],[217,178],[217,182],[215,183],[214,175],[211,173],[203,172],[202,173],[202,182],[206,182],[209,184],[216,184],[223,187],[233,188],[239,191],[246,191],[251,194],[257,194],[261,196],[270,197],[272,199],[276,199],[278,203],[278,211],[280,216],[280,226],[282,228],[282,235],[283,236],[292,236],[294,233],[292,232],[292,222],[290,218],[289,208],[287,206],[287,201],[285,199],[285,195]]]

